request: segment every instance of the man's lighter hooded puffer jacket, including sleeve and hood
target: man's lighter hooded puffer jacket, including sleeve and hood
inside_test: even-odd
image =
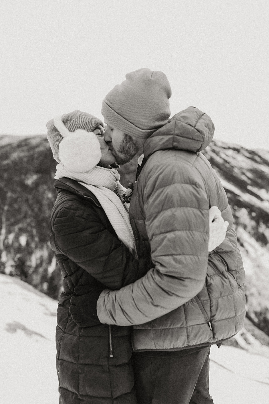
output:
[[[152,268],[133,285],[102,292],[97,305],[101,322],[135,324],[135,351],[210,345],[242,328],[244,269],[233,217],[221,181],[200,153],[213,131],[209,116],[189,107],[144,144],[130,218],[140,257],[151,253]],[[229,227],[209,254],[213,205]]]

